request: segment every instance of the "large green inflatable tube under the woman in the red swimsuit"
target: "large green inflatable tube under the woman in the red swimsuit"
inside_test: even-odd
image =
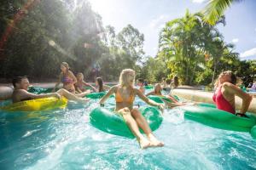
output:
[[[182,106],[178,109],[183,111],[186,119],[200,122],[210,127],[238,132],[249,132],[252,136],[256,135],[256,120],[253,116],[235,116],[227,111],[213,108],[213,106],[214,105],[192,105]]]

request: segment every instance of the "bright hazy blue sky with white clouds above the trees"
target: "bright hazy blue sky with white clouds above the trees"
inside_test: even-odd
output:
[[[114,26],[119,32],[131,24],[144,34],[146,55],[155,56],[160,29],[166,21],[201,11],[207,0],[89,0],[102,16],[104,26]],[[225,11],[226,26],[218,26],[225,42],[235,44],[234,52],[241,59],[256,59],[256,0],[233,3]]]

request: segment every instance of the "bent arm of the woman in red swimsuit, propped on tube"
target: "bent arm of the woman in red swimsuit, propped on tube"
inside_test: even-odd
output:
[[[225,82],[223,87],[225,90],[227,90],[228,93],[235,94],[242,99],[242,105],[241,105],[240,112],[241,112],[241,114],[246,113],[251,104],[253,97],[249,94],[244,93],[241,90],[241,88],[238,88],[236,85],[234,85],[230,82]]]

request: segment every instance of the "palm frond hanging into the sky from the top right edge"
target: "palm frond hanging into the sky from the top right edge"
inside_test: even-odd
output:
[[[224,11],[230,7],[232,3],[238,3],[242,0],[208,0],[207,7],[203,11],[205,20],[211,24],[215,23],[224,15]]]

